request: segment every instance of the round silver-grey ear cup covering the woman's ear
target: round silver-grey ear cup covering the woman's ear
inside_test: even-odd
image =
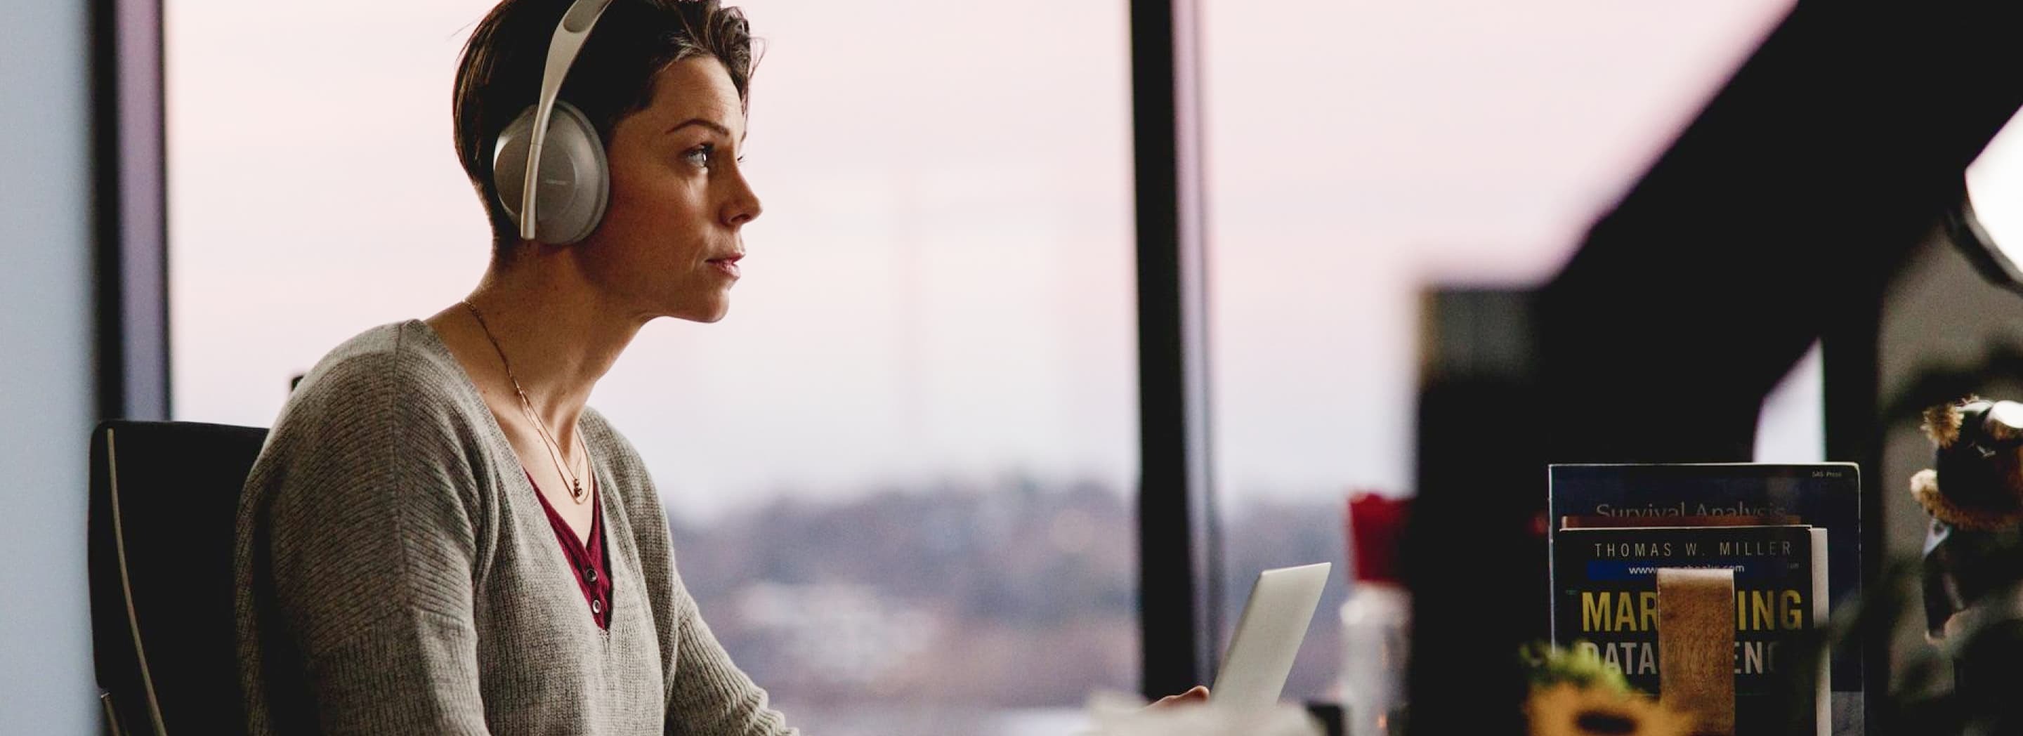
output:
[[[514,117],[492,148],[492,184],[500,206],[520,224],[526,154],[534,135],[534,107]],[[597,127],[575,105],[556,101],[548,113],[548,137],[540,150],[540,178],[534,200],[534,239],[570,245],[591,237],[611,200],[611,170]]]

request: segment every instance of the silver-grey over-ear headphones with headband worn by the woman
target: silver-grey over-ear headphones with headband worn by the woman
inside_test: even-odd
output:
[[[568,6],[548,40],[538,101],[514,117],[492,148],[492,184],[524,241],[577,243],[597,231],[605,216],[605,202],[611,198],[605,146],[581,109],[554,97],[607,6],[611,0],[577,0]]]

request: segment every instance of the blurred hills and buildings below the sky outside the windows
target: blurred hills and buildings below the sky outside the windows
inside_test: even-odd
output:
[[[1256,570],[1341,570],[1339,503],[1230,512],[1224,629]],[[1137,526],[1113,485],[787,495],[672,530],[710,629],[795,724],[823,734],[1066,734],[1092,692],[1137,692]],[[1337,574],[1287,698],[1329,696],[1343,594]]]

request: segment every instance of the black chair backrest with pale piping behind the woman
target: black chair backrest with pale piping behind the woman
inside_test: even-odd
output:
[[[115,732],[245,732],[233,534],[265,441],[192,423],[91,433],[91,641]]]

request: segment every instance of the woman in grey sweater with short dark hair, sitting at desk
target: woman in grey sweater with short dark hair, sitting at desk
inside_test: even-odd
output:
[[[714,0],[603,8],[560,101],[595,127],[609,202],[550,245],[520,237],[494,148],[536,103],[566,8],[502,2],[457,69],[483,279],[330,352],[247,479],[255,734],[793,734],[696,613],[639,455],[585,406],[643,324],[728,309],[761,212],[736,162],[751,36]]]

